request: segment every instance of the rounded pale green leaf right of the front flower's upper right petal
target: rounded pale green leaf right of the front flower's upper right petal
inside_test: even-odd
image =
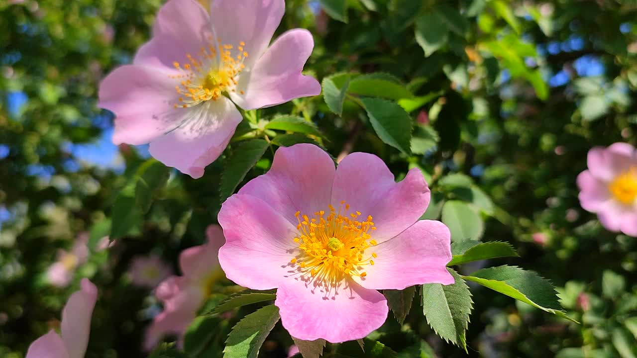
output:
[[[484,232],[484,222],[471,206],[451,200],[442,208],[442,222],[451,231],[451,241],[478,240]]]

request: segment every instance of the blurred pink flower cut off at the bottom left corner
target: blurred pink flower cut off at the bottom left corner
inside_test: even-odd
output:
[[[90,317],[97,287],[87,278],[82,289],[71,294],[62,310],[61,334],[52,329],[31,343],[26,358],[82,358],[89,344]]]

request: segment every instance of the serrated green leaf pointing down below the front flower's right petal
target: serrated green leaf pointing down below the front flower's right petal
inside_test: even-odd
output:
[[[422,285],[422,311],[438,336],[467,352],[466,330],[473,307],[471,292],[460,275],[452,269],[448,270],[454,276],[454,284]]]

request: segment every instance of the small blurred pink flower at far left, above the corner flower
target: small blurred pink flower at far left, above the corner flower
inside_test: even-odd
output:
[[[71,283],[73,274],[78,266],[89,258],[89,234],[78,234],[70,251],[59,250],[57,261],[47,269],[47,280],[55,287],[66,287]]]

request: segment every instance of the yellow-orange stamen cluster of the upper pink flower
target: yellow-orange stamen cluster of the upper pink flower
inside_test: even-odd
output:
[[[182,75],[170,75],[170,78],[179,78],[180,85],[175,86],[180,95],[179,103],[173,104],[175,108],[188,108],[205,101],[215,101],[224,92],[236,90],[235,77],[245,68],[243,60],[248,53],[243,50],[245,43],[241,41],[234,47],[222,44],[218,39],[215,45],[212,38],[208,38],[208,45],[199,50],[199,54],[193,57],[187,54],[189,62],[180,64],[173,62],[176,69]],[[243,94],[243,91],[240,91]]]

